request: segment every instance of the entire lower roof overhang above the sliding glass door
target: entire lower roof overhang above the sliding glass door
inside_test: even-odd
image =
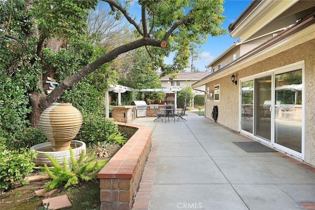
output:
[[[192,88],[197,88],[221,77],[232,75],[233,73],[246,68],[254,63],[260,62],[275,56],[285,50],[315,39],[315,17],[311,14],[306,20],[301,21],[290,29],[285,30],[278,36],[253,49],[239,59],[221,68],[202,80],[192,84]]]

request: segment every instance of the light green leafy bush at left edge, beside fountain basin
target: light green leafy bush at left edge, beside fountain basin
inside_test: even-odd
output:
[[[27,183],[23,179],[33,171],[37,152],[27,148],[7,150],[0,141],[0,188],[7,189],[13,182]]]

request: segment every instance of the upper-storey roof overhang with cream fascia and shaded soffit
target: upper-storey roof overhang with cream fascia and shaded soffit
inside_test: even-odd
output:
[[[314,0],[252,0],[228,30],[246,41],[295,24],[314,6]]]

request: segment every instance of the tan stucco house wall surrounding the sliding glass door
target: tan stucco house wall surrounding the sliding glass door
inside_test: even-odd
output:
[[[234,73],[236,79],[272,70],[298,61],[305,61],[305,162],[315,166],[315,39],[280,54],[252,64]],[[239,86],[232,85],[231,75],[206,84],[210,90],[220,85],[220,101],[206,100],[205,117],[212,119],[213,106],[219,109],[218,123],[239,131]],[[228,94],[227,94],[228,93]]]

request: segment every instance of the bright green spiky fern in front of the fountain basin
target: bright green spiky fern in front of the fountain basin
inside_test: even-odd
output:
[[[45,184],[45,188],[52,190],[57,187],[67,188],[71,185],[79,183],[79,181],[89,181],[96,178],[97,173],[104,167],[109,159],[94,161],[95,153],[86,154],[82,151],[79,159],[76,161],[70,148],[70,165],[66,164],[65,156],[63,156],[63,165],[60,166],[56,159],[49,154],[45,154],[47,158],[53,163],[54,168],[44,167],[39,168],[45,170],[52,181]]]

